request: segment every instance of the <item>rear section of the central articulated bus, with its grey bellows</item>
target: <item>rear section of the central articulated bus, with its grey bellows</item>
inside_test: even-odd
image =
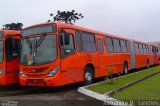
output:
[[[131,40],[132,69],[154,65],[153,46],[141,41]]]

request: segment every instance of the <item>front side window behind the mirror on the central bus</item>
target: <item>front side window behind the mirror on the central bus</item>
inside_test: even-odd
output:
[[[67,43],[66,43],[67,40],[65,40],[66,35],[64,33],[60,34],[61,57],[62,58],[65,58],[75,52],[73,35],[70,33],[66,33],[66,34],[68,34],[67,36],[69,40]]]

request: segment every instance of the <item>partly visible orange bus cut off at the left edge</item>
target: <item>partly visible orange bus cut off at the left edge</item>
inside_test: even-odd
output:
[[[0,85],[19,83],[20,33],[0,30]]]

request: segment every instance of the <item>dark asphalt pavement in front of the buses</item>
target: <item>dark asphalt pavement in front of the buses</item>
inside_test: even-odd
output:
[[[2,106],[101,106],[103,102],[77,92],[82,84],[62,87],[0,87]]]

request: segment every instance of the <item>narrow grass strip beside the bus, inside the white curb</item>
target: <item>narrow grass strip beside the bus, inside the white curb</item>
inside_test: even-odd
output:
[[[138,80],[140,78],[143,78],[144,76],[150,75],[152,73],[155,73],[157,71],[160,71],[160,66],[156,66],[150,69],[146,69],[144,71],[140,71],[138,73],[130,74],[125,77],[121,77],[118,80],[115,80],[113,83],[104,82],[98,85],[90,86],[87,89],[92,90],[94,92],[104,94],[108,91],[111,91],[113,89],[122,87],[125,84],[128,84],[134,80]],[[160,89],[160,88],[159,88]]]

